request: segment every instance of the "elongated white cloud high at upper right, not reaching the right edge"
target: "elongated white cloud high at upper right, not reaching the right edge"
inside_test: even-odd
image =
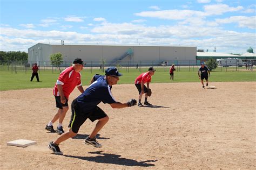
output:
[[[207,16],[211,15],[222,15],[225,12],[234,12],[242,10],[242,6],[231,7],[226,4],[214,4],[214,5],[205,5],[204,10]]]

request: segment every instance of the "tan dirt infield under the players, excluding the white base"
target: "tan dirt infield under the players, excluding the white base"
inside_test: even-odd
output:
[[[102,148],[85,145],[95,123],[64,141],[54,155],[44,130],[56,112],[52,88],[1,91],[1,169],[170,169],[256,168],[256,82],[151,84],[154,107],[112,109],[99,104],[110,121],[98,134]],[[138,98],[133,84],[113,86],[117,101]],[[70,101],[78,96],[77,89]],[[68,130],[71,112],[64,119]],[[56,123],[54,124],[56,128]],[[25,148],[7,146],[16,139],[37,141]]]

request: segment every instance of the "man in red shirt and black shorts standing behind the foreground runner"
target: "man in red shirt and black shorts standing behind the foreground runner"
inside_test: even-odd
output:
[[[82,59],[75,59],[73,65],[63,70],[53,88],[53,95],[55,96],[56,107],[59,108],[57,113],[53,116],[51,121],[46,125],[45,129],[50,132],[57,132],[58,134],[64,133],[62,122],[65,118],[66,112],[69,110],[68,100],[69,95],[75,89],[83,93],[84,89],[81,83],[81,74],[84,62]],[[53,129],[52,124],[59,119],[57,130]]]

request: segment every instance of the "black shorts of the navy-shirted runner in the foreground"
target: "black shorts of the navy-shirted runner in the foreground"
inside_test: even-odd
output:
[[[83,112],[83,110],[78,106],[76,100],[73,100],[71,104],[71,111],[74,116],[70,127],[74,133],[78,133],[80,126],[84,124],[87,118],[94,122],[97,119],[107,116],[105,112],[97,106],[91,112]]]

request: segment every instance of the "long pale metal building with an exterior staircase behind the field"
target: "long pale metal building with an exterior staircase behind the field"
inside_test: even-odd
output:
[[[28,49],[29,62],[50,61],[50,55],[62,53],[64,61],[196,61],[197,47],[135,45],[51,45],[38,43]]]

